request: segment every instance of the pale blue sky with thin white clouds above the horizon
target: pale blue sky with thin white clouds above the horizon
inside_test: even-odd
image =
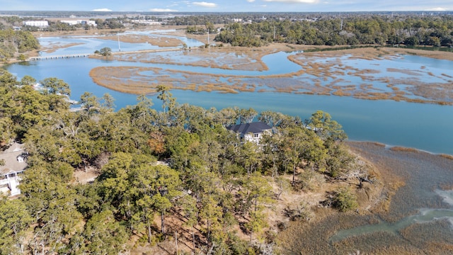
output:
[[[453,0],[0,0],[2,11],[453,11]]]

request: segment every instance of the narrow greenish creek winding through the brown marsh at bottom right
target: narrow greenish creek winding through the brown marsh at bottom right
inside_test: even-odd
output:
[[[441,196],[445,203],[453,207],[453,191],[436,190],[438,196]],[[389,232],[391,234],[399,234],[402,229],[413,225],[414,223],[427,223],[433,220],[449,220],[453,225],[453,210],[452,209],[430,209],[423,208],[419,210],[419,214],[411,215],[403,218],[395,223],[382,220],[375,225],[365,225],[354,227],[351,229],[342,229],[330,238],[330,242],[339,242],[348,237],[356,237],[360,234],[372,234],[374,232]]]

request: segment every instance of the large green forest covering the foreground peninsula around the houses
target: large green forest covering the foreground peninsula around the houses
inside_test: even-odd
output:
[[[81,111],[71,111],[69,84],[51,77],[35,89],[36,82],[0,72],[0,146],[23,143],[28,163],[22,194],[0,199],[0,254],[120,254],[168,240],[177,246],[178,234],[186,253],[278,254],[270,215],[314,217],[304,201],[276,210],[282,193],[351,176],[377,181],[322,111],[301,120],[205,109],[179,104],[166,86],[156,89],[159,111],[144,95],[115,110],[112,96],[88,92]],[[273,128],[259,144],[226,129],[253,120]],[[76,180],[84,171],[96,179]],[[324,205],[357,208],[350,186]]]

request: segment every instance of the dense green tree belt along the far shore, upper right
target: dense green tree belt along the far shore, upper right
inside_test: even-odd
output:
[[[270,42],[300,45],[431,45],[451,47],[452,16],[348,16],[229,23],[216,36],[234,46]]]

